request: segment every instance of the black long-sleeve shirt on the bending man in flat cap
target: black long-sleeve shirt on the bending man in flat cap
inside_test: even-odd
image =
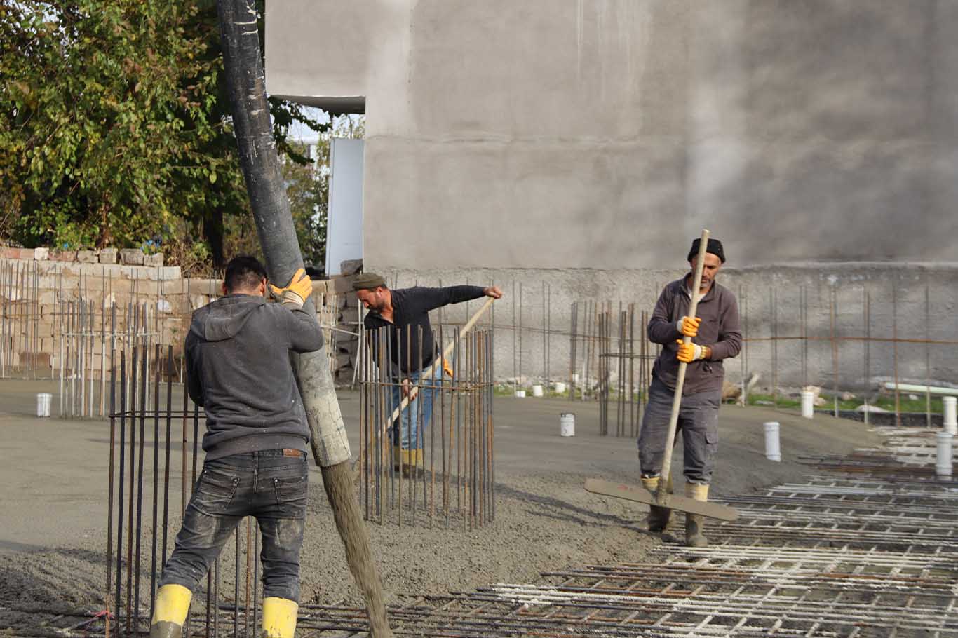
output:
[[[479,299],[486,294],[479,285],[449,285],[442,288],[400,288],[392,290],[393,321],[383,319],[371,311],[363,320],[366,330],[388,328],[390,350],[390,374],[394,377],[410,372],[416,373],[429,366],[439,350],[433,339],[429,324],[429,310],[448,304],[459,304]],[[422,350],[420,350],[422,329]],[[373,341],[374,355],[378,360],[378,344]],[[422,358],[420,357],[422,353]]]

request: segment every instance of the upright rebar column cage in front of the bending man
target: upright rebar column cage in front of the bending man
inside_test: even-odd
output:
[[[440,355],[423,351],[435,347],[424,344],[422,327],[364,330],[358,470],[367,520],[472,530],[495,518],[492,333],[459,337],[440,325],[436,343],[445,344],[448,332],[453,349],[444,366]],[[433,366],[433,374],[422,373]],[[408,386],[419,394],[394,422],[410,370],[421,375]],[[402,419],[409,421],[404,434]],[[406,463],[402,454],[410,452],[419,458]]]

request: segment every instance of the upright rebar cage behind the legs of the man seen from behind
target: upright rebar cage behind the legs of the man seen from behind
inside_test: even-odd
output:
[[[111,353],[105,635],[148,631],[172,535],[196,484],[205,415],[173,383],[179,369],[172,346]],[[184,636],[259,635],[259,532],[252,516],[239,521],[194,592]]]

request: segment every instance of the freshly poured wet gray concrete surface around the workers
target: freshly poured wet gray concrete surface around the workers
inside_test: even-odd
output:
[[[0,381],[0,631],[19,633],[63,611],[103,608],[108,423],[36,419],[35,394],[42,391],[55,392],[50,382]],[[356,434],[358,395],[341,393],[340,404]],[[576,414],[576,436],[563,438],[559,413],[569,411]],[[473,532],[369,523],[388,593],[536,581],[540,571],[641,560],[662,542],[642,529],[645,506],[582,490],[587,477],[638,482],[635,441],[599,436],[597,403],[497,398],[494,418],[495,521]],[[781,463],[764,458],[767,421],[781,423]],[[718,498],[801,479],[808,472],[798,462],[803,455],[878,444],[861,423],[819,415],[812,422],[726,405],[719,423]],[[358,442],[351,443],[355,453]],[[310,474],[302,600],[355,602],[318,468]],[[179,490],[173,481],[171,493]],[[171,535],[178,522],[171,520]],[[228,546],[224,557],[232,556]],[[232,592],[232,585],[225,581],[221,590]]]

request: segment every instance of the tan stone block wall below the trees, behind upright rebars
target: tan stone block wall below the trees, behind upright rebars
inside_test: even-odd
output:
[[[81,365],[99,378],[109,351],[134,343],[171,345],[178,358],[194,309],[221,287],[140,250],[0,247],[0,376],[69,375]],[[320,322],[335,329],[326,330],[334,378],[348,384],[358,343],[352,278],[313,282],[313,292]]]

